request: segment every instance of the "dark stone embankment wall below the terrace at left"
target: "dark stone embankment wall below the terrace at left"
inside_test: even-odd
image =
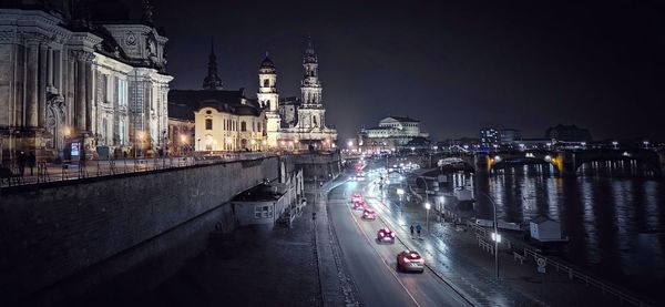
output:
[[[235,228],[223,204],[278,168],[270,157],[3,188],[0,306],[61,301],[185,242],[183,257],[196,253]]]

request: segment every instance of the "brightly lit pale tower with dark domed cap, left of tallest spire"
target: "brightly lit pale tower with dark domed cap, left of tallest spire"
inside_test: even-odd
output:
[[[256,93],[256,98],[259,105],[266,110],[267,145],[275,149],[279,139],[282,120],[278,113],[277,73],[275,64],[268,58],[267,52],[266,59],[263,60],[258,69],[258,93]]]

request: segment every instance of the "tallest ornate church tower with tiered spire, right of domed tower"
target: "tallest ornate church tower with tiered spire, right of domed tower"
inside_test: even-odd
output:
[[[307,130],[326,129],[324,104],[321,102],[321,83],[318,78],[318,59],[314,52],[311,39],[303,57],[305,75],[300,82],[301,104],[298,109],[298,127]]]

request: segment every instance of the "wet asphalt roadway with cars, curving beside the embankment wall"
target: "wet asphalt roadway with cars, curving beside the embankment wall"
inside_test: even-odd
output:
[[[327,206],[360,303],[364,306],[469,306],[429,269],[422,274],[396,270],[397,254],[407,247],[400,241],[376,242],[377,231],[387,224],[382,218],[364,221],[360,211],[350,208],[350,195],[358,192],[369,193],[367,183],[346,182],[328,194]],[[388,224],[392,225],[393,221]]]

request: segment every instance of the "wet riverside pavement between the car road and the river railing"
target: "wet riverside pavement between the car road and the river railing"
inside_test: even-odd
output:
[[[420,205],[407,204],[401,211],[409,223],[426,226],[426,212]],[[430,234],[412,238],[408,226],[400,226],[401,238],[426,255],[426,259],[441,276],[459,287],[479,306],[614,306],[618,298],[604,295],[581,280],[571,280],[563,272],[536,272],[533,258],[520,264],[500,248],[499,275],[495,279],[494,255],[483,250],[472,229],[451,223],[436,222],[430,214]]]

